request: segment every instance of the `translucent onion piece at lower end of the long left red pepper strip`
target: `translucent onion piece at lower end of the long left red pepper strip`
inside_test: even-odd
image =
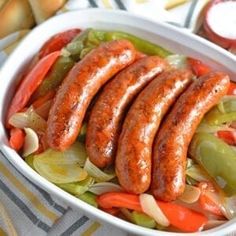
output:
[[[16,128],[31,128],[35,131],[45,131],[47,127],[47,122],[35,112],[33,107],[25,112],[15,113],[9,119],[9,123]]]

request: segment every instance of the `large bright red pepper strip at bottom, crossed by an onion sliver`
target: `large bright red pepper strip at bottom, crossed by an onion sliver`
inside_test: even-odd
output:
[[[128,193],[105,193],[97,197],[97,203],[102,208],[127,208],[142,212],[139,196]],[[194,232],[202,228],[207,218],[186,207],[174,203],[157,201],[160,209],[166,215],[170,224],[185,232]]]

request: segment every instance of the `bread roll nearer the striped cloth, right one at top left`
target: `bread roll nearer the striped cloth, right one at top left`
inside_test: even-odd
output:
[[[66,0],[29,0],[37,24],[54,15]]]

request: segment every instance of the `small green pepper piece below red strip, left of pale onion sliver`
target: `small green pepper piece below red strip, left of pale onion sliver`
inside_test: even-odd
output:
[[[140,225],[150,229],[153,229],[156,226],[156,221],[153,218],[141,212],[133,211],[131,213],[131,218],[132,222],[136,225]]]

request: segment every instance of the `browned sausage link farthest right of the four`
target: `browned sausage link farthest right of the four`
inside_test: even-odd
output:
[[[193,82],[175,103],[154,143],[152,193],[172,201],[185,188],[189,143],[204,114],[226,94],[229,77],[212,72]]]

